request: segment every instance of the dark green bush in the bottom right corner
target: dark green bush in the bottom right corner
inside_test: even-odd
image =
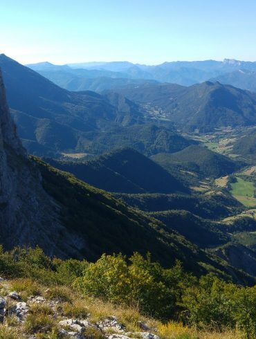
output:
[[[237,327],[256,336],[256,286],[243,288],[206,275],[183,291],[188,322],[199,327]]]

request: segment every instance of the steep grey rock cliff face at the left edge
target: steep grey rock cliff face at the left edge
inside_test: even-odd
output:
[[[0,244],[38,244],[48,255],[78,255],[83,241],[62,226],[61,212],[17,137],[0,71]]]

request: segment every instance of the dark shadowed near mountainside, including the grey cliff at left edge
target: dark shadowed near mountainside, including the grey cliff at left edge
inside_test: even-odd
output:
[[[253,282],[161,221],[38,158],[28,158],[10,118],[1,74],[0,119],[0,239],[4,248],[39,245],[48,255],[92,260],[102,253],[150,251],[165,266],[180,259],[196,274],[210,267],[235,281]]]

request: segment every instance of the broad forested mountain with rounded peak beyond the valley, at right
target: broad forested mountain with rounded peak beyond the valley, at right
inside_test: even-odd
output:
[[[132,101],[151,107],[185,131],[214,131],[218,127],[256,124],[256,94],[219,82],[189,87],[174,84],[127,86],[117,90]]]

